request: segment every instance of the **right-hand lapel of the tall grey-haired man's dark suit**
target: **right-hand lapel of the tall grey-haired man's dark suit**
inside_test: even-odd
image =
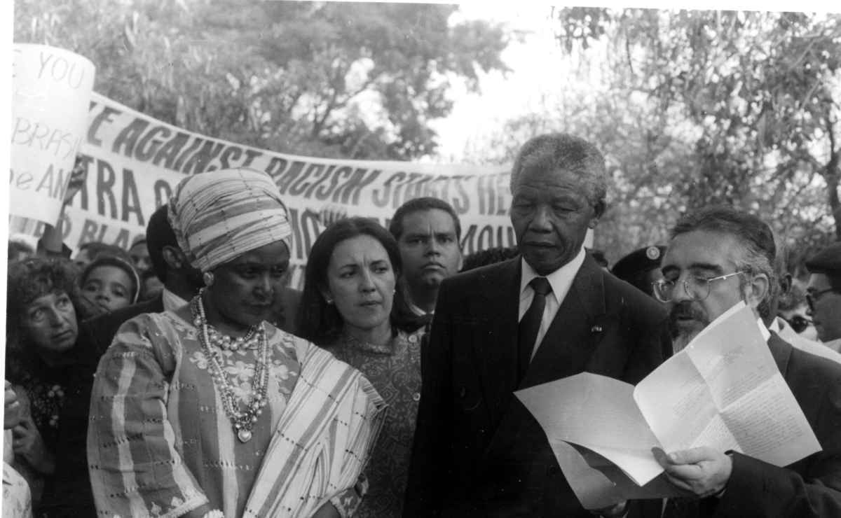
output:
[[[588,255],[537,348],[522,387],[578,374],[593,353],[593,335],[605,318],[603,272]]]

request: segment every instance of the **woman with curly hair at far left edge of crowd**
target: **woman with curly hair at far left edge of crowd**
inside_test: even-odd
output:
[[[36,511],[56,470],[65,396],[87,361],[77,345],[78,293],[77,268],[66,259],[8,266],[6,377],[20,407],[12,428],[13,466],[29,482]]]

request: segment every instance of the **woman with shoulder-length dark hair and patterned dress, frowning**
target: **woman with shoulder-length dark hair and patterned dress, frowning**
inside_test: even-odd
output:
[[[400,254],[391,234],[362,217],[341,220],[315,240],[299,313],[301,336],[368,376],[389,404],[365,474],[359,516],[399,516],[421,392],[421,332],[395,327]]]

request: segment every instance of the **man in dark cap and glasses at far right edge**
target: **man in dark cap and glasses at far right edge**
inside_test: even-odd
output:
[[[817,338],[841,353],[841,242],[832,243],[807,260],[809,284],[806,287],[807,315]]]

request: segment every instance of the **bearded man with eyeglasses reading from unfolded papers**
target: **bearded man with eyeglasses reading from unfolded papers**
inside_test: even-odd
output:
[[[669,303],[674,348],[744,301],[822,451],[785,468],[711,447],[655,449],[669,481],[695,494],[645,516],[841,516],[841,364],[805,353],[761,321],[775,292],[775,243],[758,217],[732,207],[685,215],[675,225],[655,295]],[[643,504],[644,505],[644,504]],[[661,514],[662,513],[662,514]]]

